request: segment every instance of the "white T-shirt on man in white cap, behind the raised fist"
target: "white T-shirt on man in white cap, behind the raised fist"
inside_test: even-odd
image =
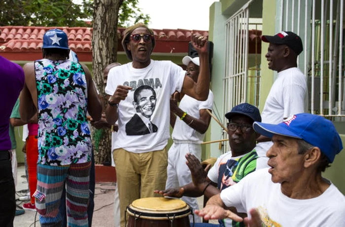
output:
[[[187,114],[199,119],[200,110],[212,110],[213,108],[213,93],[209,91],[206,101],[198,101],[188,95],[184,95],[178,107]],[[188,122],[189,123],[189,122]],[[176,117],[175,126],[173,127],[173,140],[190,141],[194,143],[202,143],[204,141],[205,133],[201,134],[193,129],[179,117]]]

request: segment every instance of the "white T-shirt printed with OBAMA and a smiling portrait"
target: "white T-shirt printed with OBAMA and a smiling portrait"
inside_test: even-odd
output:
[[[117,85],[133,88],[118,106],[119,131],[115,149],[123,148],[133,153],[144,153],[161,150],[167,145],[170,137],[170,96],[175,91],[181,91],[184,77],[185,71],[173,62],[152,59],[146,68],[133,68],[130,62],[109,70],[105,93],[113,95]],[[134,102],[135,90],[142,85],[148,85],[154,89],[155,101],[152,99],[153,92],[145,88],[146,95],[144,96],[148,97],[138,98],[140,102],[143,100],[146,104],[139,102],[137,105]],[[147,104],[148,102],[151,103]],[[147,108],[153,111],[150,118],[147,118],[151,128],[148,128],[141,120],[143,116],[141,113]]]

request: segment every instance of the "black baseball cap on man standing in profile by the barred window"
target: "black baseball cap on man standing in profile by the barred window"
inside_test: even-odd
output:
[[[261,36],[261,40],[266,43],[285,44],[286,46],[290,47],[296,53],[296,55],[301,54],[303,51],[301,37],[292,31],[281,31],[274,36],[263,35]]]

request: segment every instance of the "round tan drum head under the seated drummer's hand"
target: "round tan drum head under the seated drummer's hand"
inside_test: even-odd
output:
[[[137,199],[132,202],[132,206],[138,209],[151,211],[173,211],[186,207],[187,203],[181,199],[151,197]]]

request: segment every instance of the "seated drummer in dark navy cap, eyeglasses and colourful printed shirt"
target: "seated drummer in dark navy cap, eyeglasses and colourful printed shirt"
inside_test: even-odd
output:
[[[192,154],[187,154],[187,165],[192,173],[193,182],[182,187],[155,191],[164,196],[208,198],[219,194],[222,190],[237,184],[244,176],[256,170],[258,155],[255,151],[256,139],[260,136],[253,130],[254,121],[261,122],[258,108],[242,103],[225,114],[229,119],[228,135],[230,151],[221,155],[213,167],[206,173],[200,161]],[[214,186],[213,186],[214,185]],[[245,210],[237,210],[246,213]],[[240,214],[246,216],[245,214]],[[220,226],[237,226],[230,219],[219,220]],[[195,227],[212,226],[211,224],[196,224]]]

